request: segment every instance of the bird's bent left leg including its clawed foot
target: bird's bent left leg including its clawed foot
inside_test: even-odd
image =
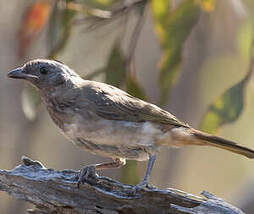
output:
[[[82,169],[80,169],[78,175],[78,183],[77,183],[78,188],[80,184],[83,184],[85,181],[88,181],[89,178],[96,178],[98,176],[96,174],[96,170],[119,168],[121,166],[124,166],[125,163],[126,162],[124,158],[116,158],[112,162],[93,164],[83,167]]]

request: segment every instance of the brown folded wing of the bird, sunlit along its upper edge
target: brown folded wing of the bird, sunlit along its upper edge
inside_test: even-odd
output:
[[[99,82],[85,81],[78,89],[75,107],[89,109],[108,120],[151,121],[159,124],[189,127],[174,115],[126,92]]]

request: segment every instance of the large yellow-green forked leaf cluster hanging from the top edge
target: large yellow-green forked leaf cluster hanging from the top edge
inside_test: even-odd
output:
[[[185,40],[197,23],[200,8],[194,0],[183,1],[174,11],[170,11],[170,1],[153,0],[151,3],[155,19],[155,30],[162,47],[160,70],[160,104],[166,102],[170,89],[179,75],[182,49]]]

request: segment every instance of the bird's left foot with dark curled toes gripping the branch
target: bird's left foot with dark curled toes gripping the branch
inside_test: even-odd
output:
[[[85,166],[82,169],[80,169],[77,177],[77,187],[80,187],[80,184],[84,184],[85,182],[88,183],[94,183],[98,175],[96,174],[96,166],[95,165],[89,165]]]

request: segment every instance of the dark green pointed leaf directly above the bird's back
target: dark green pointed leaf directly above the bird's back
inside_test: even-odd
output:
[[[105,81],[110,85],[120,87],[125,80],[126,69],[124,56],[118,42],[112,48],[108,63],[104,68],[104,72],[106,74]]]

